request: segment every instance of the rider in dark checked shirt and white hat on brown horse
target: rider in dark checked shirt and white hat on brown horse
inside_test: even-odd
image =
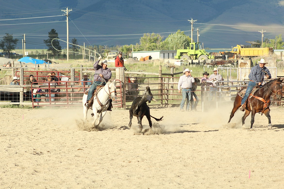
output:
[[[252,88],[254,88],[255,86],[260,86],[262,87],[262,82],[264,80],[264,78],[266,77],[267,79],[271,78],[271,74],[270,71],[267,67],[265,67],[265,64],[267,64],[268,62],[265,61],[265,59],[260,59],[260,61],[258,61],[258,65],[252,67],[250,69],[250,74],[249,74],[249,84],[246,90],[246,93],[241,101],[241,107],[240,107],[240,111],[245,111],[245,106],[247,103],[246,100],[249,97],[249,94],[252,92]]]

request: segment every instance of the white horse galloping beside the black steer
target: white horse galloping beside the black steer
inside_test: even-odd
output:
[[[99,89],[99,92],[97,94],[94,94],[94,99],[93,99],[93,114],[94,114],[94,121],[92,123],[93,127],[99,126],[99,124],[102,122],[103,117],[106,114],[106,109],[108,108],[109,105],[109,100],[115,99],[116,96],[116,91],[115,91],[115,80],[113,81],[108,81],[106,85],[102,88]],[[84,112],[84,120],[87,120],[87,112],[88,108],[85,107],[85,103],[87,101],[87,91],[83,95],[82,103],[83,103],[83,112]],[[92,115],[93,116],[93,115]],[[99,123],[95,125],[95,122],[99,120]]]

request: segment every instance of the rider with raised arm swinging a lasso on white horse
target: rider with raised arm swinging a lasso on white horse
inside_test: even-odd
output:
[[[93,67],[95,69],[95,75],[94,75],[94,79],[93,79],[93,84],[92,86],[89,88],[88,91],[88,96],[87,96],[87,102],[85,103],[85,107],[89,108],[91,103],[89,103],[89,100],[92,98],[93,96],[93,92],[95,91],[95,89],[97,88],[97,86],[103,85],[105,86],[106,83],[108,82],[108,80],[111,78],[112,74],[109,68],[107,68],[107,66],[109,65],[107,63],[106,60],[101,62],[101,65],[99,65],[100,60],[102,59],[102,57],[100,56],[98,58],[98,60],[94,63]],[[111,111],[111,104],[112,100],[110,99],[110,103],[108,106],[108,111]]]

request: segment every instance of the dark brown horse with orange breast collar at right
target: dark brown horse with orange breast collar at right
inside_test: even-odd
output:
[[[251,112],[251,121],[250,121],[250,129],[252,129],[252,125],[254,123],[254,115],[256,113],[264,113],[264,115],[268,118],[268,129],[272,129],[271,120],[270,120],[270,96],[273,93],[277,96],[277,98],[281,99],[282,97],[282,85],[281,82],[283,81],[278,79],[270,80],[264,86],[256,90],[254,94],[250,94],[248,100],[246,101],[246,111],[244,116],[242,117],[243,127],[245,126],[245,119]],[[242,89],[243,90],[243,89]],[[241,92],[241,90],[239,91]],[[231,121],[232,117],[234,116],[235,112],[239,107],[241,107],[241,100],[242,97],[237,94],[234,102],[234,107],[230,115],[230,119],[228,123]]]

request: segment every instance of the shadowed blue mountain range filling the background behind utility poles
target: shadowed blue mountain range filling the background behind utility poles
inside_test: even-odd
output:
[[[69,42],[76,38],[80,45],[135,45],[144,33],[166,39],[178,30],[191,37],[191,18],[193,40],[198,28],[204,48],[248,45],[261,41],[262,33],[268,39],[284,33],[284,1],[279,0],[11,0],[1,1],[0,38],[13,34],[21,49],[25,34],[27,49],[43,49],[43,40],[55,29],[66,41],[66,13],[61,11],[66,7],[72,10]]]

